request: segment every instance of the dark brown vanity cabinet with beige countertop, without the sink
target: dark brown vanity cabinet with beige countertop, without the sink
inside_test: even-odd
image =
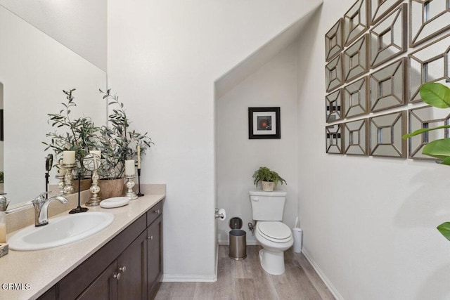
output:
[[[89,207],[115,220],[79,242],[10,251],[0,259],[0,284],[23,288],[0,289],[0,299],[153,299],[162,277],[164,200],[162,193],[115,209]]]

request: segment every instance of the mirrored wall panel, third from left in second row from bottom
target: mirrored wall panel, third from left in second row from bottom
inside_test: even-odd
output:
[[[371,78],[371,112],[404,105],[406,99],[406,58],[383,67],[370,75]]]

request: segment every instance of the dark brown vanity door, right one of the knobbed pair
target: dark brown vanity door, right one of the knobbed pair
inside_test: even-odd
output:
[[[147,296],[147,235],[146,231],[117,258],[118,299],[146,299]]]

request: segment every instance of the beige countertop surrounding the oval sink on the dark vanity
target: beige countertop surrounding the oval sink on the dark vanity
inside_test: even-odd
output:
[[[164,197],[164,194],[145,195],[114,209],[89,207],[89,211],[114,214],[114,221],[84,240],[36,251],[10,249],[6,256],[0,257],[0,299],[35,299],[41,296]],[[68,214],[68,211],[57,216]],[[8,237],[13,234],[8,234]],[[16,289],[9,289],[8,284],[14,284]]]

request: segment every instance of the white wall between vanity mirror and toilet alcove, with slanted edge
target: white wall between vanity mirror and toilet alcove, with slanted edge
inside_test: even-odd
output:
[[[214,81],[321,1],[108,1],[108,77],[167,183],[165,280],[214,280]]]

